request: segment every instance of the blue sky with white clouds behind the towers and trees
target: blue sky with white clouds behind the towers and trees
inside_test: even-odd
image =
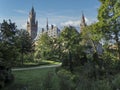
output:
[[[3,19],[11,19],[18,29],[26,29],[29,12],[32,6],[36,12],[38,28],[49,25],[62,28],[72,25],[79,28],[82,12],[86,23],[97,21],[99,0],[0,0],[0,23]]]

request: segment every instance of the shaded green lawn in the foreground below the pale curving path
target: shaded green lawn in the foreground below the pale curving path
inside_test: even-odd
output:
[[[15,81],[3,90],[59,90],[55,68],[14,71]]]

